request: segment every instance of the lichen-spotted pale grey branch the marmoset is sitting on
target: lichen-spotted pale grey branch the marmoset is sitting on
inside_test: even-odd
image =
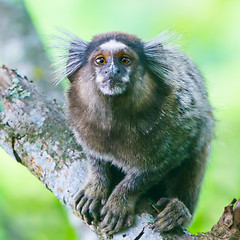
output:
[[[0,146],[26,166],[53,192],[63,205],[73,209],[73,196],[87,175],[87,161],[68,128],[62,106],[41,95],[26,77],[0,68]],[[225,208],[212,231],[193,236],[188,232],[160,236],[151,227],[153,216],[136,216],[135,225],[112,239],[240,239],[240,200]],[[90,226],[99,239],[107,239]],[[233,238],[234,237],[234,238]]]

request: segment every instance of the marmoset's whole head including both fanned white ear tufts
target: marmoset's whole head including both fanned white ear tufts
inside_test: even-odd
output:
[[[66,52],[66,76],[80,88],[95,88],[106,96],[119,96],[129,89],[147,90],[145,79],[164,78],[169,70],[163,50],[163,35],[149,42],[121,32],[96,35],[91,42],[69,35]],[[141,91],[140,91],[141,92]]]

